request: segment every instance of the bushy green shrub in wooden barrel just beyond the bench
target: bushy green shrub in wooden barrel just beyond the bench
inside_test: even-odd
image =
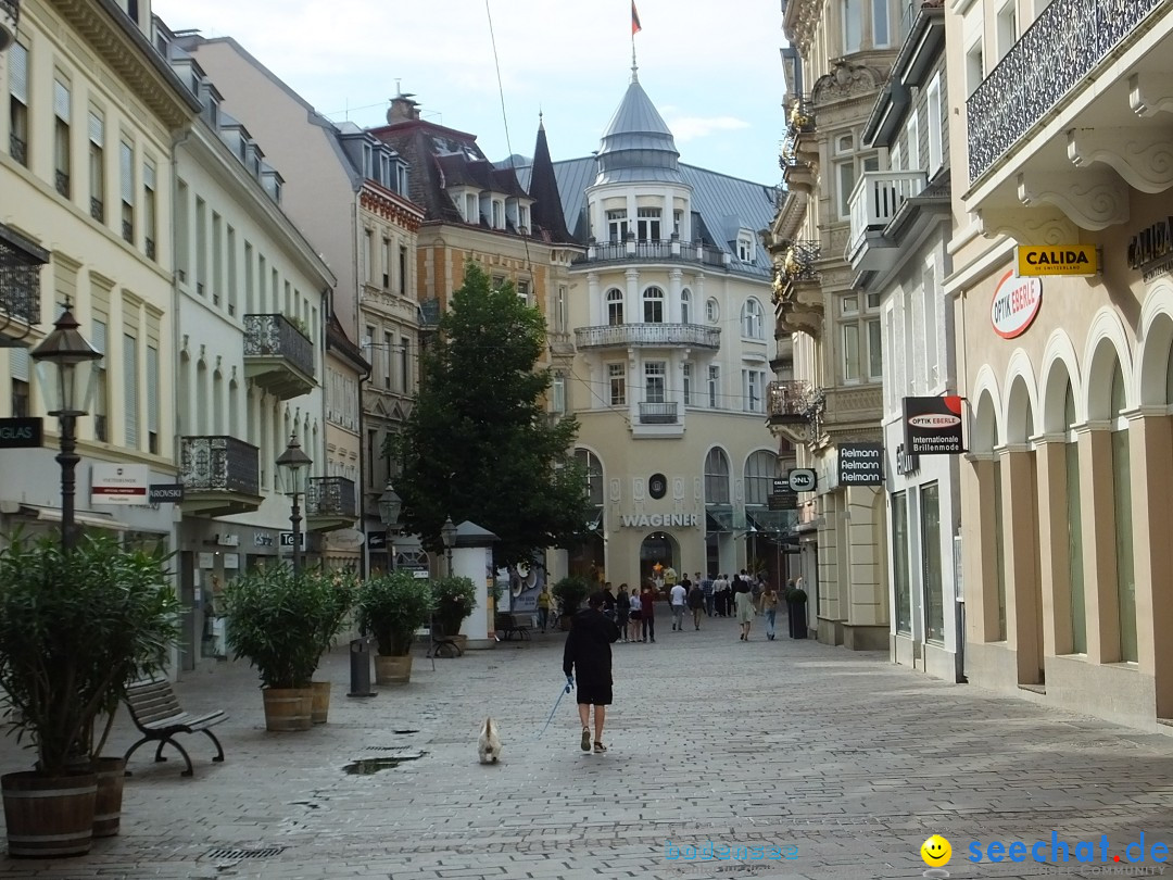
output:
[[[308,730],[310,682],[325,650],[324,621],[337,614],[330,578],[293,574],[286,564],[262,566],[225,587],[224,604],[229,648],[237,658],[248,657],[260,676],[265,729]]]

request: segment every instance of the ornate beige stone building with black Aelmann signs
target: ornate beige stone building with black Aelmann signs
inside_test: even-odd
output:
[[[883,649],[882,481],[840,481],[843,444],[874,451],[883,442],[881,295],[855,286],[845,255],[852,192],[886,164],[883,151],[865,144],[863,128],[901,42],[901,7],[893,0],[787,0],[782,7],[793,48],[782,55],[787,192],[771,226],[779,337],[771,422],[798,445],[798,466],[816,472],[814,493],[800,495],[798,524],[808,624],[830,644]]]

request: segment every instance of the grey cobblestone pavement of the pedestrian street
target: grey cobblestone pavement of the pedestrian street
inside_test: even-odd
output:
[[[434,671],[418,656],[409,685],[371,699],[345,696],[339,650],[326,663],[331,720],[305,733],[264,731],[245,663],[189,675],[177,684],[187,709],[231,713],[216,729],[226,760],[211,764],[205,738],[189,737],[196,776],[184,779],[174,759],[140,750],[120,837],[79,859],[2,858],[0,880],[917,878],[933,833],[952,841],[951,876],[1011,880],[1119,865],[974,865],[970,842],[1051,841],[1053,831],[1071,859],[1077,841],[1098,857],[1105,834],[1110,859],[1141,834],[1173,844],[1173,738],[933,681],[879,654],[767,642],[760,625],[750,643],[730,620],[672,632],[665,615],[662,630],[655,645],[615,645],[605,756],[579,751],[571,697],[538,737],[563,682],[562,635]],[[497,766],[475,756],[489,713],[504,739]],[[109,753],[133,742],[124,723]],[[415,750],[393,769],[344,772]],[[0,740],[0,770],[28,764]],[[670,860],[669,841],[683,853],[710,841],[796,852]],[[277,852],[233,858],[266,848]],[[1131,867],[1157,874],[1153,861]]]

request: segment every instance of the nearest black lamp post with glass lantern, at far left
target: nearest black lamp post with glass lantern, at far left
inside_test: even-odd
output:
[[[75,428],[77,417],[89,412],[94,399],[97,351],[79,332],[81,325],[66,300],[65,311],[53,325],[53,332],[29,353],[36,361],[36,377],[49,407],[49,415],[56,415],[61,426],[61,547],[69,550],[74,544],[74,473],[81,456],[77,455]]]

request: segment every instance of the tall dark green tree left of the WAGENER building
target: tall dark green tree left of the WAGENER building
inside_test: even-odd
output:
[[[544,348],[541,311],[469,263],[438,339],[420,356],[412,414],[388,442],[401,472],[404,526],[428,549],[442,550],[447,516],[497,535],[499,567],[530,563],[535,551],[582,532],[588,500],[572,454],[578,422],[547,417],[551,375],[536,368]]]

